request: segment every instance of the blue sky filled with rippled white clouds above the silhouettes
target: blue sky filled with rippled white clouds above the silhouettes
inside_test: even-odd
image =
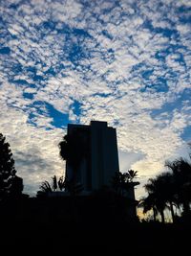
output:
[[[0,0],[0,132],[25,192],[65,163],[68,123],[117,128],[137,197],[191,141],[190,0]]]

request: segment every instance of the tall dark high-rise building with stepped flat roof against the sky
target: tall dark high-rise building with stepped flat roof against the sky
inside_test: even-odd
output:
[[[107,126],[107,122],[91,121],[90,126],[68,125],[68,135],[81,138],[77,145],[81,158],[77,166],[76,181],[82,184],[84,191],[111,186],[112,177],[119,172],[116,128]],[[74,166],[66,163],[66,175],[70,180],[74,175]]]

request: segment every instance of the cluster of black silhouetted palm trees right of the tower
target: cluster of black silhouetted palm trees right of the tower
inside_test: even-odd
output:
[[[158,213],[164,222],[164,210],[169,209],[172,221],[191,220],[191,162],[180,157],[166,161],[169,172],[150,178],[144,186],[148,196],[142,198],[143,213],[153,210],[154,221]]]

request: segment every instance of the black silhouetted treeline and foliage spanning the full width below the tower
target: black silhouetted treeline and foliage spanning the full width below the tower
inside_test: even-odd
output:
[[[60,153],[66,160],[61,149]],[[54,175],[52,183],[43,181],[37,197],[30,198],[23,194],[10,144],[0,134],[1,244],[14,253],[35,255],[189,255],[191,164],[180,158],[166,166],[169,172],[149,179],[145,185],[148,196],[139,202],[144,212],[153,210],[154,220],[138,221],[132,214],[136,209],[132,205],[138,201],[128,198],[138,185],[134,181],[137,172],[116,173],[111,189],[104,187],[89,197],[78,197],[83,188],[74,180],[68,184],[63,176]],[[64,191],[68,197],[56,196]],[[173,223],[164,223],[165,208],[171,211]],[[158,214],[163,222],[156,220]],[[3,247],[0,252],[3,255]]]

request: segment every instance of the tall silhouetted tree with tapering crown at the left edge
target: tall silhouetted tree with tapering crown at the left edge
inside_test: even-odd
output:
[[[22,190],[23,179],[16,175],[10,144],[0,133],[0,198],[18,197]]]

